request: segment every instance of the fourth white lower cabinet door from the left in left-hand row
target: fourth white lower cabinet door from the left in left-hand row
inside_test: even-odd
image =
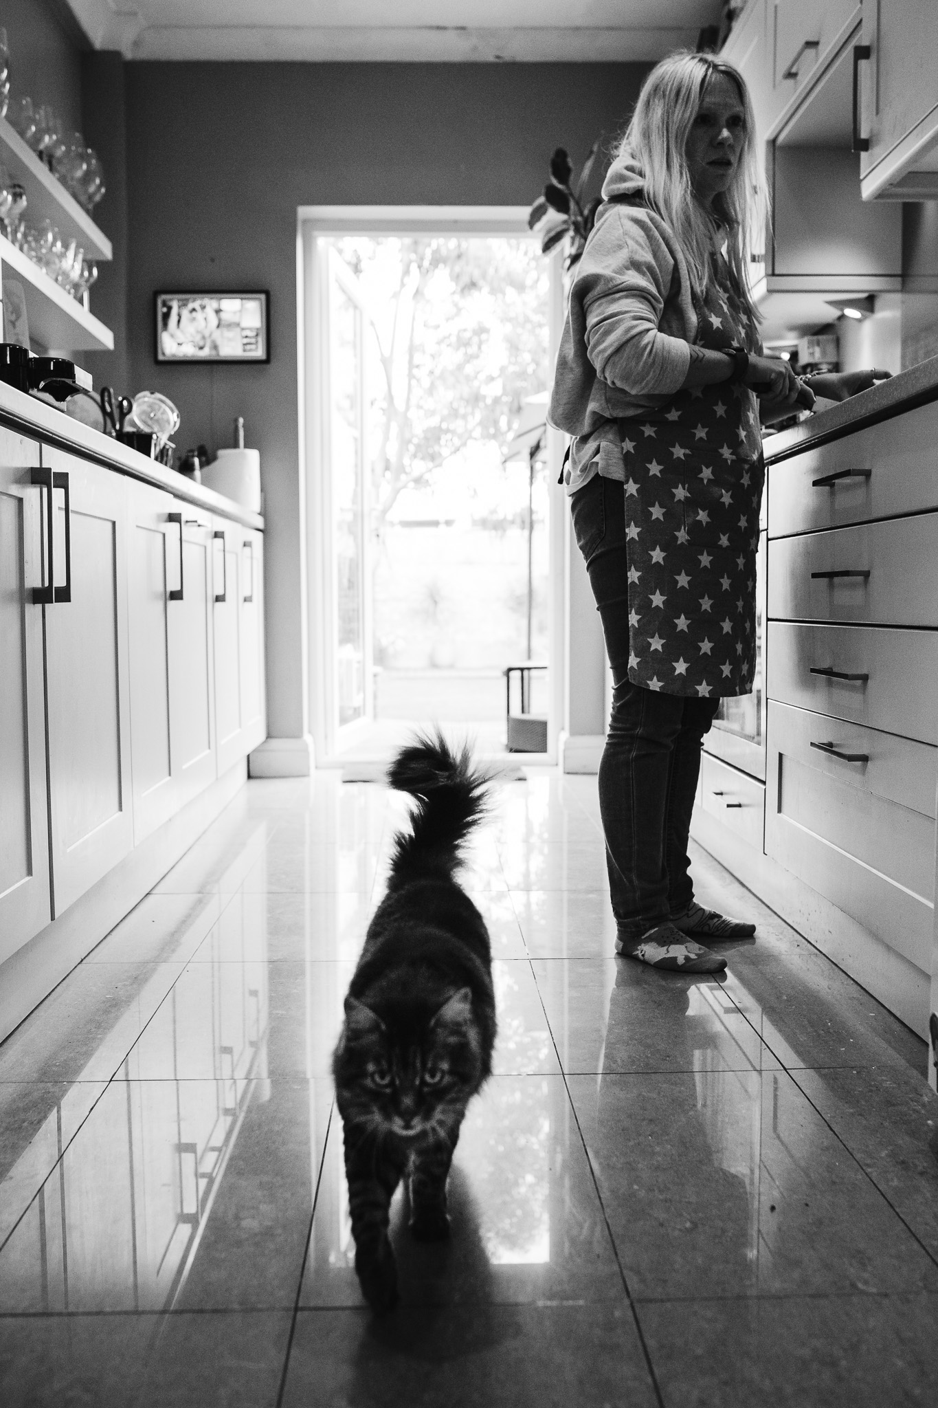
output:
[[[215,781],[212,670],[212,527],[208,514],[176,501],[181,582],[167,611],[170,760],[176,805]],[[179,596],[176,596],[179,591]]]

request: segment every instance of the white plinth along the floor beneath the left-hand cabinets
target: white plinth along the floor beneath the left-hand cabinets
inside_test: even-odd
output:
[[[163,879],[243,787],[246,774],[242,759],[0,964],[0,1041]]]

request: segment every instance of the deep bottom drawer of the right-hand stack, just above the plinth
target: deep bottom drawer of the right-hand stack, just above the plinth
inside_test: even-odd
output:
[[[937,777],[935,748],[769,703],[766,855],[923,970],[931,963]]]

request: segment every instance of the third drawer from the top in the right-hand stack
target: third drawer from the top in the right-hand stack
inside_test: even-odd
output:
[[[813,673],[820,670],[834,673]],[[782,704],[938,745],[935,680],[938,632],[769,624],[766,693]]]

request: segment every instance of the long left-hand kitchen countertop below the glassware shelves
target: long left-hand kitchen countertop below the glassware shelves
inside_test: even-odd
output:
[[[27,396],[25,391],[17,391],[3,382],[0,382],[0,424],[41,439],[46,445],[55,445],[58,449],[73,451],[83,459],[91,459],[107,469],[129,474],[145,484],[155,484],[158,489],[174,494],[176,498],[197,504],[212,514],[224,514],[225,518],[233,518],[248,528],[264,527],[260,514],[250,513],[249,508],[236,504],[233,498],[225,498],[224,494],[217,494],[212,489],[193,483],[186,474],[159,465],[155,459],[131,449],[129,445],[122,445],[110,435],[103,435],[101,431],[72,420],[70,415],[49,406],[48,401]]]

